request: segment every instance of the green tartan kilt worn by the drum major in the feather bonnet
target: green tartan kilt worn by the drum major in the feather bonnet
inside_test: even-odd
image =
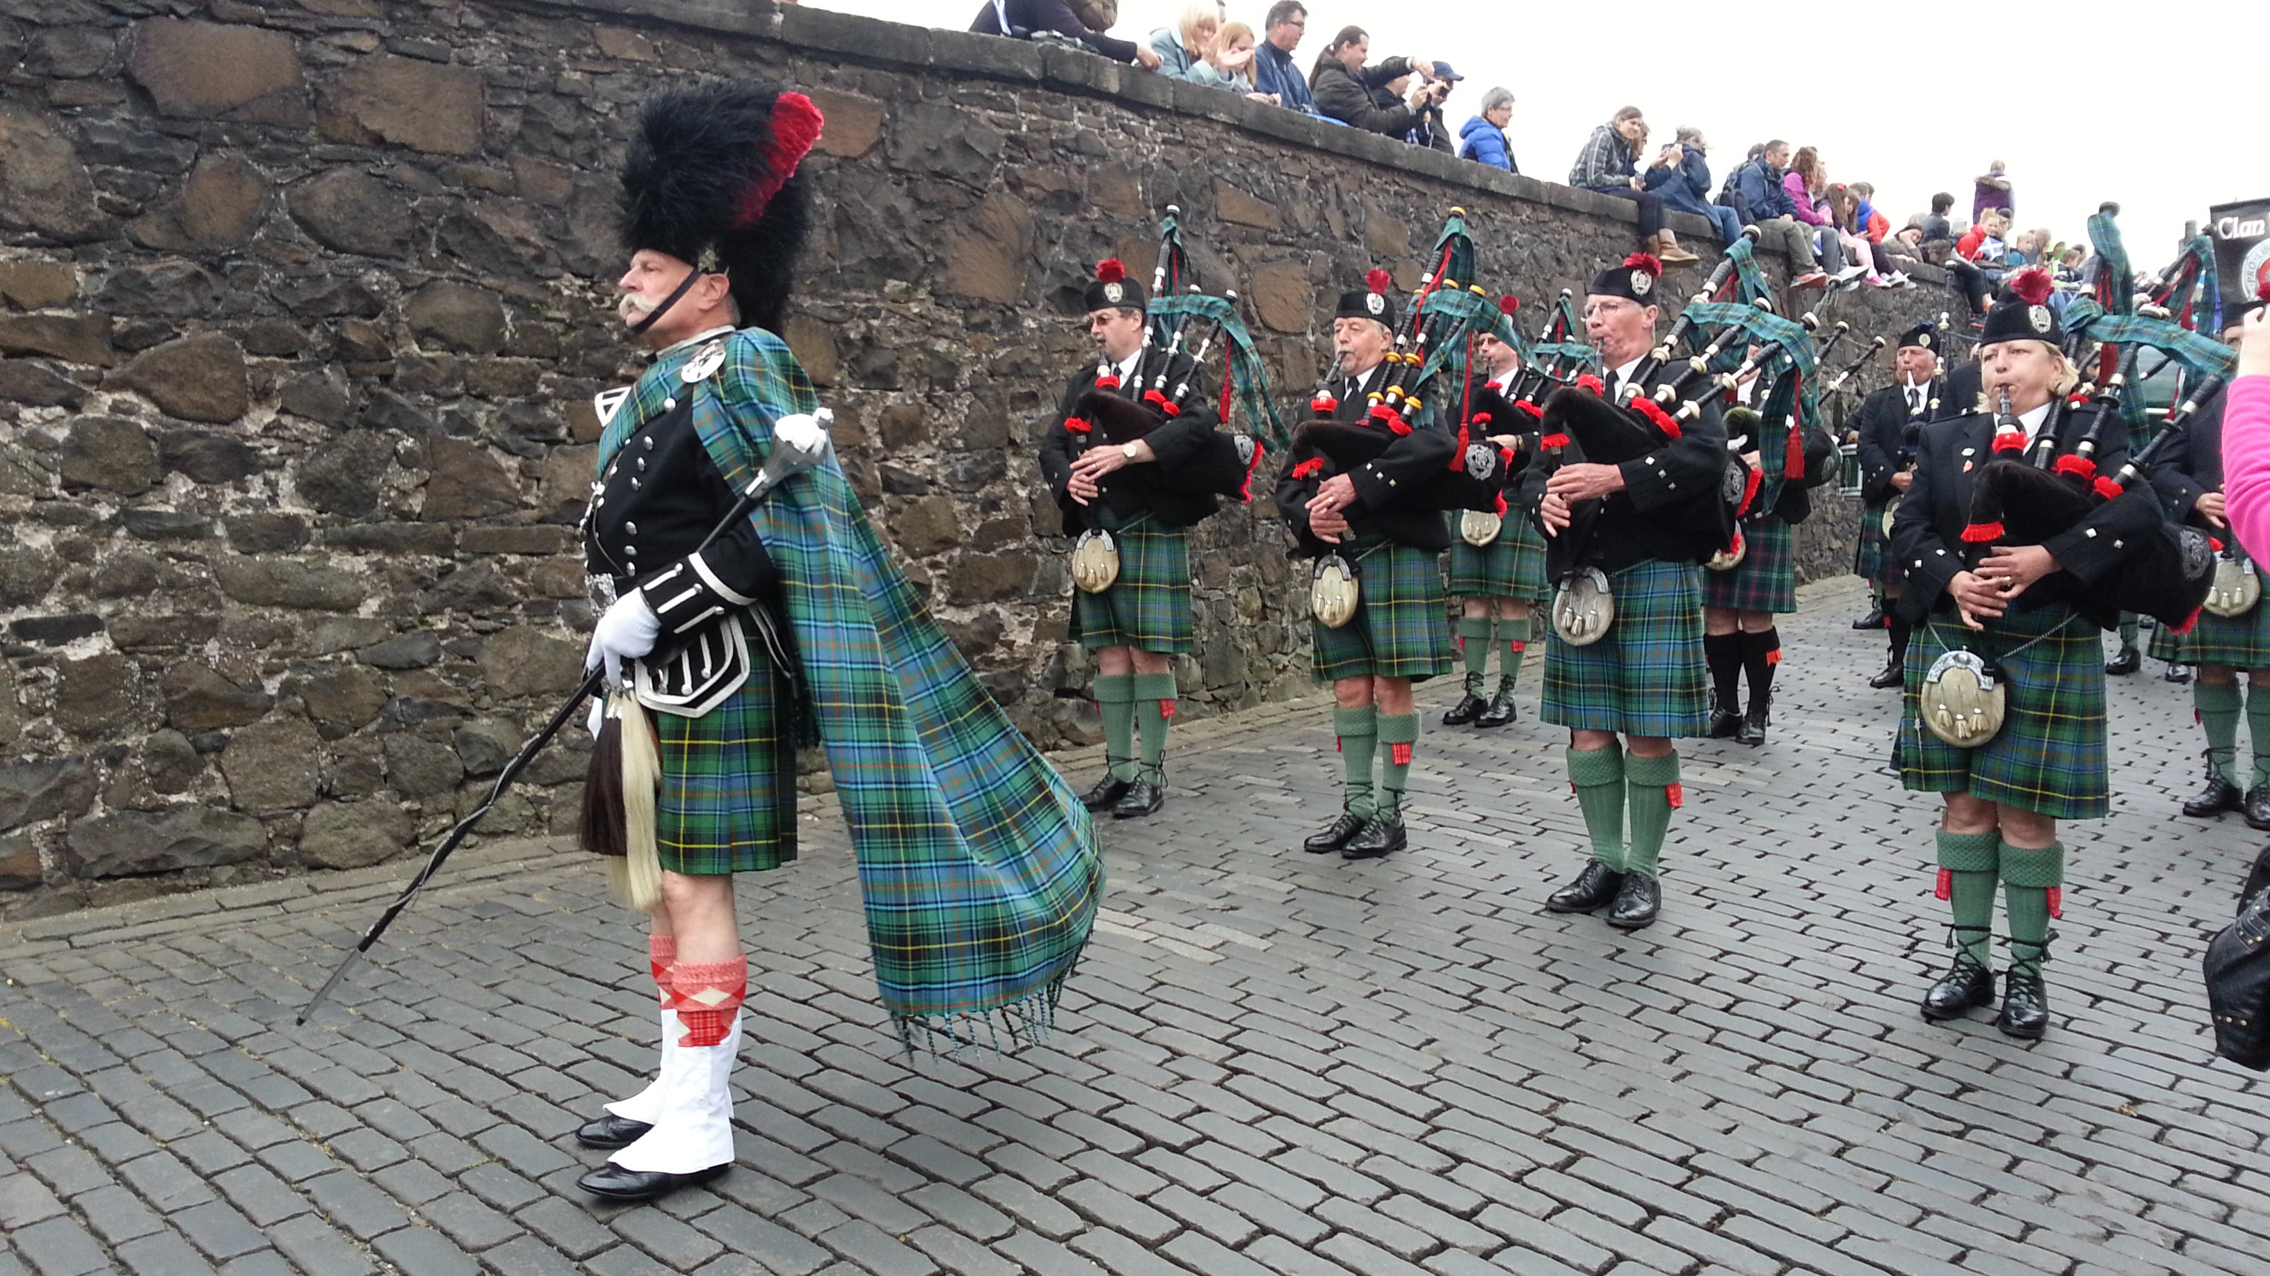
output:
[[[701,717],[647,713],[663,761],[654,845],[670,872],[760,872],[797,858],[790,695],[754,638],[749,661],[749,681]]]

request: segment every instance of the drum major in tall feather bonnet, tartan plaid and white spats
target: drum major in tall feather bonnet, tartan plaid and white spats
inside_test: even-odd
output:
[[[656,1081],[577,1131],[615,1149],[579,1185],[620,1201],[733,1165],[733,874],[797,858],[799,738],[826,749],[908,1047],[1046,1026],[1103,890],[1087,813],[915,597],[776,336],[819,125],[801,93],[672,91],[622,173],[622,320],[656,354],[599,395],[583,543],[611,690],[583,840],[651,913],[663,1040]]]

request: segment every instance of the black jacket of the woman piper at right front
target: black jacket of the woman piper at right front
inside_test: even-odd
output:
[[[2095,409],[2063,413],[2057,427],[2057,454],[2066,456],[2088,429]],[[1900,502],[1900,513],[1891,520],[1891,552],[1907,572],[1907,593],[1900,595],[1900,613],[1920,622],[1927,613],[1952,613],[1954,599],[1948,581],[1957,572],[1970,570],[1973,559],[1984,547],[1964,543],[1964,527],[1970,527],[1970,493],[1977,470],[1995,459],[1993,418],[1973,413],[1923,427],[1916,447],[1916,481]],[[2127,429],[2107,422],[2100,431],[2097,472],[2111,475],[2127,461]],[[2088,620],[2111,627],[2118,608],[2093,597],[2091,586],[2120,563],[2129,545],[2141,545],[2143,536],[2159,531],[2161,511],[2154,500],[2129,497],[2095,506],[2082,522],[2061,536],[2043,540],[2057,556],[2057,572],[2034,581],[2013,599],[2013,608],[2034,611],[2038,606],[2066,604]]]

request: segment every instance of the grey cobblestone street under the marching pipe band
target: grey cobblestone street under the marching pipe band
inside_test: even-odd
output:
[[[574,1190],[602,1153],[568,1131],[654,1049],[640,931],[581,856],[463,854],[304,1029],[413,865],[30,922],[0,1276],[2261,1271],[2270,1094],[2213,1058],[2197,967],[2261,838],[2175,815],[2188,688],[2113,679],[2048,1040],[1932,1026],[1936,799],[1884,765],[1852,581],[1802,599],[1766,747],[1682,742],[1637,935],[1541,908],[1584,838],[1537,661],[1496,733],[1421,688],[1387,861],[1296,849],[1337,806],[1323,699],[1178,727],[1017,1058],[899,1056],[817,801],[804,863],[740,885],[740,1165],[661,1206]]]

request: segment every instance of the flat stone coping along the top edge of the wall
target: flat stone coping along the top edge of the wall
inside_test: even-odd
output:
[[[1258,136],[1269,136],[1319,150],[1339,159],[1362,159],[1380,168],[1396,168],[1432,182],[1448,182],[1507,200],[1525,200],[1548,209],[1584,213],[1619,223],[1639,223],[1639,209],[1628,200],[1580,191],[1559,182],[1544,182],[1519,173],[1505,173],[1487,163],[1457,159],[1439,150],[1428,150],[1344,125],[1330,125],[1301,111],[1253,102],[1239,93],[1169,79],[1165,75],[1121,66],[1092,52],[956,32],[944,27],[917,27],[858,14],[810,9],[804,5],[776,5],[774,0],[504,0],[515,7],[570,11],[592,18],[615,18],[649,23],[661,27],[690,27],[724,32],[794,45],[806,52],[831,54],[876,68],[922,68],[944,70],[972,79],[994,79],[1001,84],[1031,84],[1085,98],[1110,98],[1130,107],[1176,111],[1208,120],[1237,125]],[[1716,243],[1718,229],[1696,213],[1666,209],[1666,223],[1675,234]],[[1939,266],[1916,263],[1907,270],[1918,284],[1945,284],[1948,272]]]

